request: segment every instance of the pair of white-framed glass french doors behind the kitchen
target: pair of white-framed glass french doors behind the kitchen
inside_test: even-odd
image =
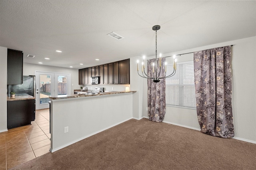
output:
[[[70,73],[36,73],[36,110],[49,108],[49,96],[70,95]]]

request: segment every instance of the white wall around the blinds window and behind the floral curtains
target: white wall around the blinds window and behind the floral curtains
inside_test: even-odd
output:
[[[176,51],[163,54],[163,57],[226,45],[234,45],[232,51],[232,109],[235,138],[256,143],[256,37]],[[155,56],[151,56],[147,59],[152,59],[154,57]],[[178,61],[181,60],[182,57],[191,57],[191,60],[193,60],[193,54],[187,56],[181,55],[181,57],[178,56]],[[133,60],[135,59],[142,60],[141,57],[133,57]],[[130,65],[136,65],[136,63],[131,62]],[[131,69],[134,68],[131,67]],[[138,90],[139,92],[143,91],[143,97],[139,98],[139,100],[143,103],[143,116],[148,117],[148,112],[145,109],[147,107],[147,83],[146,81],[143,81],[143,87],[140,87],[142,84],[138,85],[136,83],[137,78],[134,78],[135,76],[138,77],[137,69],[136,71],[131,71],[131,73],[131,89]],[[140,80],[140,82],[142,82],[142,80]],[[200,128],[197,121],[196,110],[192,109],[167,107],[164,121],[194,129]]]

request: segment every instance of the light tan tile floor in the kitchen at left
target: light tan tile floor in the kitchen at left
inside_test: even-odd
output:
[[[31,125],[0,133],[0,170],[10,169],[50,152],[49,109],[36,110]]]

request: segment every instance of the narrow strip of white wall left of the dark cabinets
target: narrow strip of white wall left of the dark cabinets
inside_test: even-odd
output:
[[[0,47],[0,132],[7,131],[7,48]]]

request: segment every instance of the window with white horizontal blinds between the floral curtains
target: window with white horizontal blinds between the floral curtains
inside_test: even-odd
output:
[[[166,67],[166,75],[170,75],[173,65]],[[166,79],[166,105],[196,108],[193,61],[177,63],[175,75]]]

